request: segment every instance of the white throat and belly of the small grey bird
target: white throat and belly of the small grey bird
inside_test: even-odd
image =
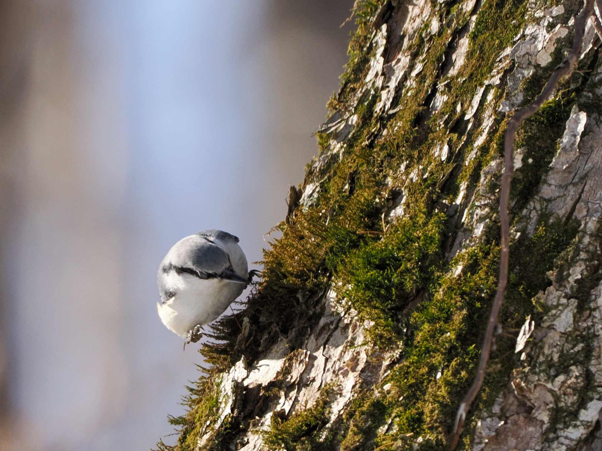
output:
[[[219,278],[200,279],[190,274],[178,277],[178,295],[157,304],[163,324],[185,338],[196,325],[205,325],[222,314],[244,290],[244,284]]]

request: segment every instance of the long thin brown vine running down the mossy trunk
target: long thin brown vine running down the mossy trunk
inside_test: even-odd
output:
[[[597,0],[600,2],[600,0]],[[508,127],[506,129],[506,135],[504,136],[504,174],[501,179],[501,195],[500,195],[500,219],[501,219],[501,256],[500,256],[500,278],[498,280],[497,293],[495,293],[495,299],[489,314],[489,322],[487,324],[487,330],[485,331],[485,338],[483,339],[483,346],[481,348],[481,357],[479,360],[479,367],[477,368],[477,374],[474,378],[473,385],[471,385],[468,393],[462,399],[458,413],[456,414],[456,424],[453,429],[452,444],[450,451],[456,449],[458,441],[460,440],[460,434],[462,434],[462,428],[464,428],[464,420],[470,410],[474,399],[477,397],[483,379],[485,378],[485,370],[489,361],[489,353],[491,352],[491,345],[493,343],[493,333],[497,319],[500,314],[501,304],[504,301],[504,295],[506,293],[506,284],[508,280],[508,260],[509,260],[509,235],[510,235],[510,220],[508,214],[508,203],[510,199],[510,182],[512,181],[512,172],[514,170],[514,140],[518,127],[521,123],[529,117],[531,117],[539,108],[544,104],[546,100],[550,98],[556,85],[563,76],[569,76],[573,72],[574,67],[577,64],[581,49],[583,46],[583,34],[585,32],[585,23],[589,19],[589,16],[594,9],[594,0],[585,0],[583,10],[577,16],[575,20],[575,37],[573,39],[573,48],[566,59],[556,67],[556,70],[550,76],[541,94],[535,99],[533,103],[525,108],[519,109],[515,112],[514,116],[510,118]]]

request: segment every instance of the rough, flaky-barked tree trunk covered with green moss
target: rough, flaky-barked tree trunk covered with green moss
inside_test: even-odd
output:
[[[498,282],[507,122],[565,60],[582,8],[356,2],[320,153],[159,449],[447,449]],[[596,14],[516,133],[506,296],[458,449],[602,447]]]

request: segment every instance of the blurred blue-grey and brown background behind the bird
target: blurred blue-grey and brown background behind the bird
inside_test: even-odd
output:
[[[173,432],[202,362],[158,318],[158,264],[209,228],[261,260],[352,5],[0,0],[0,449]]]

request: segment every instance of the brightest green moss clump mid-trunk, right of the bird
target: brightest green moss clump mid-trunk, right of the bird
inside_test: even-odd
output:
[[[400,315],[441,266],[445,215],[423,212],[405,217],[382,239],[371,239],[340,259],[335,269],[339,294],[373,326],[368,334],[380,347],[399,340]]]

